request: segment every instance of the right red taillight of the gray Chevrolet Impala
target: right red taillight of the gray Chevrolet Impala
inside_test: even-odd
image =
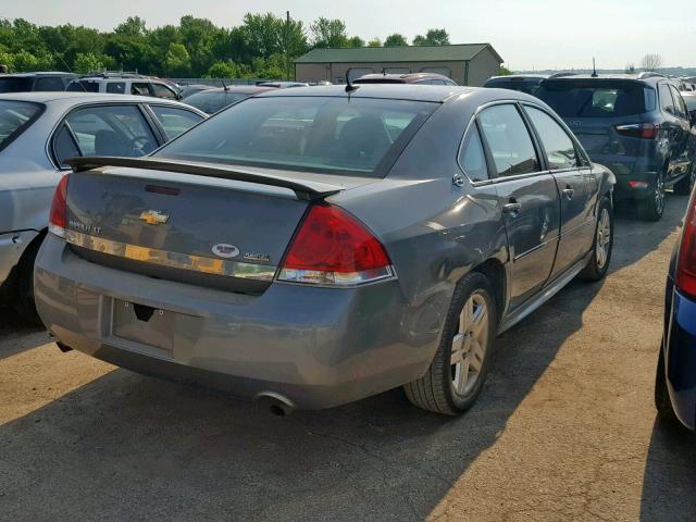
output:
[[[344,286],[391,276],[389,256],[365,225],[337,207],[316,204],[302,221],[278,279]]]

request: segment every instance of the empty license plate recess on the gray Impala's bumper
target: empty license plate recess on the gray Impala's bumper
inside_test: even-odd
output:
[[[111,335],[172,353],[177,315],[169,310],[114,299]]]

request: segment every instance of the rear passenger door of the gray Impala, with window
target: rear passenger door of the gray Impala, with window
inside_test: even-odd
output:
[[[513,310],[544,286],[554,268],[560,227],[558,189],[544,170],[517,103],[488,107],[477,119],[502,203]]]

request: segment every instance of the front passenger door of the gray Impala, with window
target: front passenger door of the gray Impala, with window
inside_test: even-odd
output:
[[[591,249],[595,231],[593,211],[599,187],[589,161],[558,121],[539,107],[525,104],[524,110],[560,194],[561,231],[554,264],[556,275],[575,264]]]

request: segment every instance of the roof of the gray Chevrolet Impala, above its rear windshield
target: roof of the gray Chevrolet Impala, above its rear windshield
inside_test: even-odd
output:
[[[455,95],[469,94],[480,90],[492,91],[481,87],[460,87],[457,85],[410,85],[410,84],[360,84],[350,92],[345,85],[327,85],[315,87],[297,87],[295,89],[273,89],[259,95],[260,98],[275,96],[300,97],[336,97],[336,98],[378,98],[391,100],[412,100],[444,102]]]

